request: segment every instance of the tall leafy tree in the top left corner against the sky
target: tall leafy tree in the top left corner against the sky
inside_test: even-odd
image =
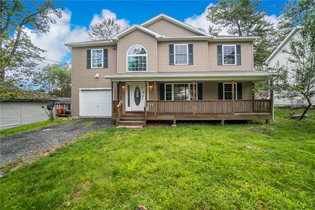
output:
[[[0,4],[0,80],[4,81],[6,73],[11,73],[6,80],[20,83],[32,76],[32,70],[37,66],[34,60],[41,61],[41,53],[45,52],[32,44],[25,28],[30,28],[32,33],[49,32],[49,24],[56,23],[52,15],[62,17],[63,3],[0,0]]]

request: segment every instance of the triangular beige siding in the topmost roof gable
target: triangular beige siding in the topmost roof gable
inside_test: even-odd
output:
[[[200,34],[192,32],[182,26],[172,23],[165,19],[157,20],[148,26],[145,26],[151,31],[157,32],[164,36],[198,36]]]

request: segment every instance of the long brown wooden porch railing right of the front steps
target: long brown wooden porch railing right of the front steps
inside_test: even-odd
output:
[[[147,114],[271,113],[271,100],[146,101]],[[194,106],[195,105],[195,106]],[[194,110],[195,109],[195,110]]]

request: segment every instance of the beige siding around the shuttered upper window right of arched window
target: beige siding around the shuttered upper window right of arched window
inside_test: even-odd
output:
[[[193,65],[169,65],[169,44],[193,44]],[[157,43],[158,72],[191,72],[207,71],[207,42],[206,41],[173,41]]]

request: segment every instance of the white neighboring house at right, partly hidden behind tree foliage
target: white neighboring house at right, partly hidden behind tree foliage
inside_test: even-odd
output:
[[[294,66],[294,64],[288,61],[289,55],[287,53],[283,53],[282,51],[284,49],[289,49],[291,39],[295,39],[295,40],[301,39],[300,32],[299,32],[300,29],[301,29],[300,26],[293,29],[289,33],[289,35],[281,42],[278,48],[272,52],[272,54],[265,61],[265,63],[268,64],[268,67],[275,67],[277,65],[277,62],[279,62],[280,66],[288,66],[289,68]],[[311,102],[313,105],[315,105],[315,96],[311,98]],[[307,100],[302,99],[302,97],[296,97],[293,101],[291,101],[289,98],[278,99],[277,95],[275,95],[274,105],[275,106],[302,106],[302,105],[307,106],[308,102]]]

